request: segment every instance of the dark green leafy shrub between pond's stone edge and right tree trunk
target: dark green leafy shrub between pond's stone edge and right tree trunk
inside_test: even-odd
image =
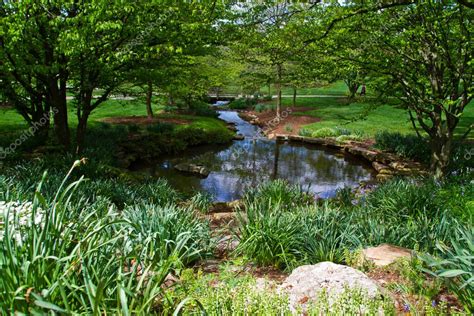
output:
[[[380,132],[375,135],[375,147],[424,163],[430,160],[428,141],[415,135]]]

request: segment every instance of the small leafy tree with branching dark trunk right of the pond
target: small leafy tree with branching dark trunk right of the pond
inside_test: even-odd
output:
[[[330,34],[361,51],[334,54],[386,78],[415,128],[429,136],[437,178],[447,172],[454,130],[473,98],[473,19],[474,10],[458,2],[427,1],[354,15]]]

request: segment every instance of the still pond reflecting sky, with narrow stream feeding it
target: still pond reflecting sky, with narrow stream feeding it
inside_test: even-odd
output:
[[[364,160],[317,145],[280,142],[265,138],[260,128],[234,111],[219,111],[219,118],[235,124],[244,140],[225,146],[199,146],[150,164],[135,164],[132,171],[163,177],[183,193],[207,192],[215,201],[232,201],[251,187],[273,179],[285,179],[303,190],[328,198],[338,188],[355,187],[373,179]],[[206,178],[177,171],[174,166],[193,163],[210,170]]]

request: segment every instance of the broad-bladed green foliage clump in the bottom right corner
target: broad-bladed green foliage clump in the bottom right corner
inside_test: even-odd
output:
[[[456,294],[467,312],[474,312],[474,229],[459,228],[453,234],[451,245],[438,243],[439,258],[423,255],[428,268],[425,271],[441,278]]]

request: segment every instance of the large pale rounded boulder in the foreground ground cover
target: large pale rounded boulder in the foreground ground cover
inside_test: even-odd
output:
[[[324,292],[328,295],[330,304],[346,290],[362,291],[369,298],[379,295],[376,283],[364,273],[332,262],[296,268],[283,282],[281,290],[288,295],[293,310],[298,306],[304,308]]]

